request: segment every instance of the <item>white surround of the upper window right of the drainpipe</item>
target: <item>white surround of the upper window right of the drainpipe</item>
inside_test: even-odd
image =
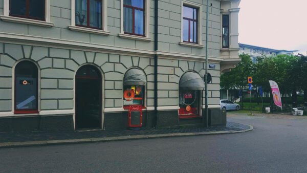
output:
[[[191,8],[195,8],[198,10],[197,13],[197,44],[193,44],[193,43],[189,43],[189,42],[183,42],[183,6],[187,6],[187,7],[191,7]],[[202,13],[203,13],[203,6],[201,4],[196,4],[196,3],[191,3],[191,2],[187,2],[187,1],[182,1],[181,2],[181,40],[179,42],[179,45],[182,46],[189,46],[189,47],[195,47],[195,48],[203,48],[203,32],[202,32]]]

